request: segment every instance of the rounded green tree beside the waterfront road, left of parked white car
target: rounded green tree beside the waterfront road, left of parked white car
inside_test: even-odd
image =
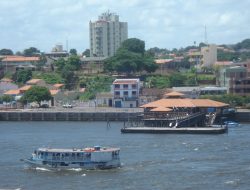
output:
[[[20,101],[23,104],[26,104],[28,102],[36,102],[40,106],[41,101],[44,101],[44,100],[48,101],[51,99],[52,99],[52,96],[48,88],[42,87],[42,86],[33,86],[24,93]]]

